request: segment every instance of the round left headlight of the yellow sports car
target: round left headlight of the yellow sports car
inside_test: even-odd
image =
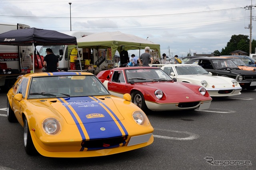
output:
[[[44,119],[42,126],[45,133],[48,133],[49,135],[55,135],[60,132],[60,123],[53,117]]]

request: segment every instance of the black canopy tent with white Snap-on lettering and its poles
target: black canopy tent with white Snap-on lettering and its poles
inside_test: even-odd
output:
[[[7,31],[0,34],[0,45],[19,45],[30,46],[33,48],[38,45],[76,45],[76,37],[60,33],[58,31],[27,28]],[[78,48],[78,47],[77,47]],[[34,49],[33,49],[34,51]],[[80,56],[78,53],[80,61]],[[80,62],[80,68],[81,62]],[[81,70],[82,71],[82,70]],[[33,72],[34,72],[34,53],[33,53]]]

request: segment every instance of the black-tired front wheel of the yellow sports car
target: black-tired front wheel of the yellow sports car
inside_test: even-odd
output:
[[[37,154],[37,150],[34,146],[34,143],[31,138],[31,134],[28,127],[28,120],[25,117],[24,118],[24,131],[23,131],[23,141],[24,141],[24,148],[27,154],[29,155],[35,155]]]

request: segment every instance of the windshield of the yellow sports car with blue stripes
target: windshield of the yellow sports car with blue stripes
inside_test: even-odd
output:
[[[28,98],[110,95],[94,75],[33,77]]]

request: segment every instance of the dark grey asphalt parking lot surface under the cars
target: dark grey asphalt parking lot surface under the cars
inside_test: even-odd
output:
[[[0,92],[0,170],[256,169],[256,90],[213,98],[210,109],[147,113],[154,127],[148,147],[92,158],[28,156],[23,129],[6,117]]]

